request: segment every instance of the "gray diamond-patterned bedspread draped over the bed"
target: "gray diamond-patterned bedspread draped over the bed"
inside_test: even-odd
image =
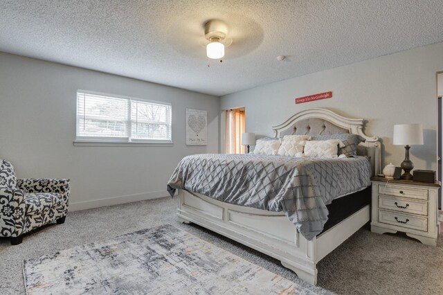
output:
[[[221,202],[284,212],[311,240],[327,221],[332,200],[370,186],[366,157],[296,158],[255,154],[196,154],[185,157],[168,181],[177,188]]]

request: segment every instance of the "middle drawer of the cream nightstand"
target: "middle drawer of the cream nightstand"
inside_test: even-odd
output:
[[[428,202],[379,195],[379,208],[428,216]]]

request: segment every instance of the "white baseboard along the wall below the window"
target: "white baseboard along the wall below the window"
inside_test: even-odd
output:
[[[142,193],[136,195],[110,197],[105,199],[94,199],[91,201],[84,201],[84,202],[74,202],[74,203],[70,202],[69,211],[72,212],[72,211],[80,211],[92,208],[99,208],[104,206],[113,206],[113,205],[143,201],[146,199],[159,199],[161,197],[170,197],[170,195],[165,190],[159,190],[156,192]]]

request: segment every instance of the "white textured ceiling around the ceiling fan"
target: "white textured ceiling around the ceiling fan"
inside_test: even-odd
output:
[[[221,96],[441,42],[442,15],[442,0],[0,0],[0,51]],[[209,68],[208,19],[233,39]]]

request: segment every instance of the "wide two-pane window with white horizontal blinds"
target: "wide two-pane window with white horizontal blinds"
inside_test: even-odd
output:
[[[77,91],[76,141],[171,143],[170,104]]]

